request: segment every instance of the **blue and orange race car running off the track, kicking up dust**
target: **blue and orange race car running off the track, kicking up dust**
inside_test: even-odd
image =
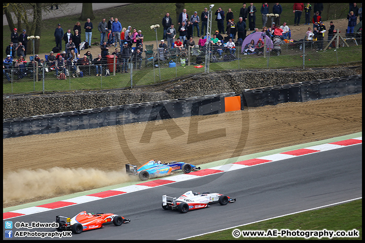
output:
[[[200,167],[185,163],[171,161],[171,163],[163,164],[160,160],[150,160],[137,169],[137,166],[126,164],[127,174],[138,175],[142,181],[148,180],[153,177],[160,177],[170,175],[171,172],[182,170],[185,174],[191,171],[200,170]]]

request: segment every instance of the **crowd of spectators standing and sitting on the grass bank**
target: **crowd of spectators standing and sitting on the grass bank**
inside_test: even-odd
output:
[[[236,16],[238,21],[235,22],[235,13],[232,9],[225,11],[218,7],[216,11],[212,11],[215,16],[217,30],[211,36],[206,32],[207,21],[209,12],[207,8],[198,14],[194,11],[192,15],[189,15],[186,9],[184,9],[178,15],[178,22],[175,26],[169,13],[166,13],[162,19],[163,26],[163,38],[159,48],[163,48],[167,52],[171,48],[178,49],[179,52],[184,52],[186,49],[198,47],[204,48],[207,43],[213,48],[213,53],[217,53],[220,58],[224,52],[234,55],[236,51],[236,45],[241,44],[246,36],[254,32],[258,32],[256,27],[256,15],[258,10],[262,15],[262,32],[268,35],[271,39],[275,36],[280,37],[282,40],[290,38],[290,28],[286,22],[280,25],[280,17],[282,14],[282,7],[279,3],[276,3],[272,9],[269,9],[268,3],[264,3],[260,7],[255,7],[252,3],[247,6],[243,3],[242,8],[239,10],[239,15]],[[314,15],[311,17],[311,11],[314,11]],[[323,11],[323,4],[315,3],[313,6],[310,3],[295,3],[293,5],[294,13],[294,26],[300,25],[302,12],[305,13],[304,25],[313,24],[313,30],[308,27],[306,32],[307,41],[317,41],[317,50],[323,48],[324,33],[327,31],[324,26],[321,13]],[[275,17],[268,18],[267,14],[273,13]],[[358,8],[356,3],[349,4],[348,29],[347,33],[353,32],[354,26],[357,23],[357,16],[359,20],[362,20],[362,6]],[[213,16],[211,16],[213,17]],[[271,19],[271,21],[270,21]],[[267,23],[271,22],[270,27],[267,27]],[[196,31],[195,31],[196,29]],[[74,28],[68,28],[66,32],[63,31],[61,24],[58,23],[54,31],[55,46],[56,49],[51,51],[46,57],[46,60],[40,59],[37,55],[27,63],[25,57],[27,54],[27,34],[23,29],[21,34],[17,33],[17,28],[14,28],[11,33],[11,42],[6,48],[7,58],[3,62],[4,74],[9,79],[9,70],[11,67],[16,67],[19,78],[24,77],[27,74],[28,67],[47,67],[49,71],[55,70],[55,75],[59,72],[67,73],[72,77],[76,77],[78,73],[85,72],[86,67],[90,65],[95,66],[96,76],[103,74],[103,65],[107,63],[107,56],[113,52],[112,55],[116,56],[118,70],[124,73],[128,72],[128,62],[133,62],[134,68],[141,68],[142,52],[143,52],[143,34],[141,30],[128,26],[122,27],[122,23],[118,18],[111,17],[108,21],[102,18],[97,25],[97,31],[100,32],[100,54],[96,58],[92,58],[90,51],[87,48],[91,48],[91,39],[93,32],[93,23],[88,18],[87,21],[82,24],[76,22]],[[253,31],[247,34],[248,31]],[[84,31],[85,37],[82,37]],[[95,31],[95,30],[94,30]],[[327,31],[327,41],[330,42],[333,35],[336,33],[333,22],[330,22],[329,30]],[[222,34],[226,34],[223,37]],[[194,42],[194,36],[201,37],[198,43]],[[177,40],[175,41],[175,38]],[[237,42],[235,40],[237,38]],[[64,41],[64,48],[62,49],[62,41]],[[165,43],[165,41],[167,43]],[[253,41],[253,40],[252,40]],[[94,43],[95,44],[95,43]],[[247,44],[247,51],[252,49],[263,48],[263,41],[260,39],[256,44]],[[115,50],[111,48],[114,46]],[[118,46],[120,50],[118,50]],[[57,50],[58,49],[58,50]],[[110,50],[109,50],[110,49]],[[85,54],[80,57],[81,52],[85,50]],[[55,51],[62,52],[55,56]],[[15,60],[16,57],[19,57]],[[66,71],[66,68],[71,71]]]

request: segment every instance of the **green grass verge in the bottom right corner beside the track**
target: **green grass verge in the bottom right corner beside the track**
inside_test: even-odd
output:
[[[194,240],[211,240],[211,239],[305,239],[304,237],[238,237],[232,235],[234,229],[242,230],[264,230],[268,229],[289,229],[289,230],[344,230],[351,231],[356,229],[359,231],[359,237],[333,237],[332,239],[362,239],[362,199],[351,201],[347,204],[337,205],[329,208],[318,209],[294,215],[284,216],[281,218],[262,221],[254,224],[249,224],[237,228],[232,228],[224,231],[210,233],[202,236],[197,236],[189,239]],[[309,239],[318,239],[311,237]],[[329,239],[322,237],[321,239]]]

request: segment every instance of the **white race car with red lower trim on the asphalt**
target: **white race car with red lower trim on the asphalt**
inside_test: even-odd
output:
[[[236,201],[229,196],[203,192],[197,193],[187,191],[179,197],[171,197],[167,195],[162,196],[162,208],[164,210],[177,209],[180,213],[187,213],[189,210],[203,209],[209,207],[212,203],[219,203],[220,205],[227,205]]]

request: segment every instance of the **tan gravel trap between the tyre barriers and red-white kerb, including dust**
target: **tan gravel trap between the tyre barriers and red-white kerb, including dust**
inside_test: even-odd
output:
[[[362,131],[362,94],[3,140],[3,207],[125,182],[124,164],[201,165]]]

